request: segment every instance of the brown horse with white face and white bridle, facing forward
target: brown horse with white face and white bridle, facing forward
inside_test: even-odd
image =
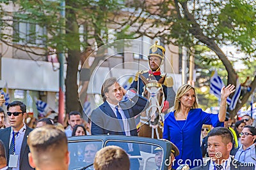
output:
[[[140,75],[141,80],[145,83],[143,96],[148,99],[148,108],[140,115],[140,131],[138,136],[161,139],[163,131],[160,122],[163,122],[161,110],[164,105],[164,93],[162,84],[165,76],[157,80],[147,80],[143,75]],[[162,126],[163,128],[163,126]]]

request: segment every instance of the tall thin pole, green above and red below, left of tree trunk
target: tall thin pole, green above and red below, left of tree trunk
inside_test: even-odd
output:
[[[65,34],[65,0],[61,1],[61,38]],[[64,78],[64,61],[65,61],[65,53],[64,46],[61,46],[61,52],[58,54],[58,60],[60,63],[60,87],[59,87],[59,113],[58,113],[58,122],[60,124],[64,123],[64,110],[65,110],[65,78]]]

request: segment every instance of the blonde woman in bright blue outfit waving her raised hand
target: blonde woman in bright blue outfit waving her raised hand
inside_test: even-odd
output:
[[[223,127],[227,97],[235,90],[234,85],[222,87],[220,111],[218,114],[209,114],[198,108],[195,89],[191,85],[182,85],[179,88],[173,111],[164,118],[163,132],[163,138],[171,141],[179,148],[180,155],[175,157],[174,169],[177,169],[181,164],[188,164],[190,168],[202,164],[200,148],[202,125]]]

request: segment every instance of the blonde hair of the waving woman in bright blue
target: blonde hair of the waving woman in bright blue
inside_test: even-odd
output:
[[[184,96],[184,94],[186,94],[186,92],[188,92],[188,90],[190,90],[190,89],[193,89],[195,92],[195,95],[196,95],[196,90],[191,85],[188,85],[188,84],[182,85],[178,89],[177,94],[175,96],[174,106],[173,106],[173,110],[175,110],[176,113],[180,111],[180,102],[179,102],[180,97]],[[194,102],[193,106],[191,107],[191,109],[195,109],[195,108],[198,108],[198,104],[196,102],[196,96],[195,96],[195,102]]]

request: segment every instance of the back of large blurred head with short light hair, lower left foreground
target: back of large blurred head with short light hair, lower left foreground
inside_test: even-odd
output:
[[[54,125],[45,125],[30,132],[28,145],[35,167],[38,169],[54,165],[67,166],[65,162],[68,153],[67,137],[65,132]]]

